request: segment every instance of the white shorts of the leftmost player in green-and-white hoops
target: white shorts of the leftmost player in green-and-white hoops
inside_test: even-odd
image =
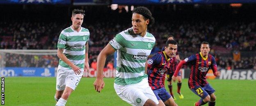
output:
[[[81,71],[83,70],[84,69],[81,69]],[[76,86],[78,86],[78,83],[80,82],[82,73],[80,75],[75,75],[75,72],[73,70],[66,71],[58,68],[56,77],[56,90],[62,91],[65,89],[66,86],[75,90]]]

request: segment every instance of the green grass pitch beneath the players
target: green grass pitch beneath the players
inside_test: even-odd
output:
[[[104,78],[105,88],[101,93],[94,90],[94,80],[82,78],[66,106],[130,106],[115,93],[114,78]],[[256,106],[256,80],[214,79],[208,82],[216,90],[216,106]],[[55,77],[6,77],[5,106],[55,106],[55,84]],[[169,91],[167,85],[166,88]],[[199,100],[188,88],[187,79],[183,79],[181,88],[184,99],[178,98],[176,83],[173,88],[179,106],[193,106]]]

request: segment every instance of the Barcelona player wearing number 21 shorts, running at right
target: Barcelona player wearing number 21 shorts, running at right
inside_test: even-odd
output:
[[[214,95],[215,90],[210,86],[206,80],[206,74],[209,68],[213,70],[215,76],[219,76],[219,71],[217,71],[217,65],[213,55],[209,54],[210,44],[208,42],[202,42],[200,46],[200,53],[196,55],[191,55],[179,62],[172,80],[175,82],[177,74],[183,64],[191,65],[191,73],[188,80],[188,86],[190,90],[198,95],[201,99],[196,102],[195,106],[201,106],[206,103],[209,106],[215,106],[216,96]]]

